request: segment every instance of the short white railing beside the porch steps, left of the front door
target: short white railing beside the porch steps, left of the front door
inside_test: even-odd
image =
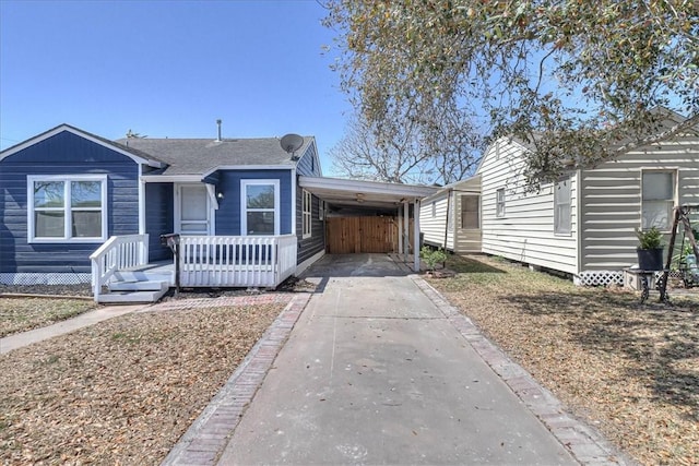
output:
[[[98,301],[102,287],[117,271],[139,267],[149,263],[149,236],[112,236],[90,255],[92,287]]]

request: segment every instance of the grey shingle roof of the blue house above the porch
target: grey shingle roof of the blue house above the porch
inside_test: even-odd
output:
[[[277,138],[221,141],[131,138],[116,142],[167,164],[167,167],[157,171],[159,175],[202,175],[220,166],[296,165],[291,154],[282,148]],[[304,138],[304,145],[296,151],[296,156],[304,155],[311,142],[312,138]]]

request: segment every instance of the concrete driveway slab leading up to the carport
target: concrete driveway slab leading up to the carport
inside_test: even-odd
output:
[[[325,256],[220,464],[578,464],[382,254]]]

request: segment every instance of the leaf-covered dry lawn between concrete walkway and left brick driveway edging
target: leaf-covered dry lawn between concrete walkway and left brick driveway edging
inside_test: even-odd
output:
[[[0,356],[0,463],[159,464],[283,308],[133,313]]]

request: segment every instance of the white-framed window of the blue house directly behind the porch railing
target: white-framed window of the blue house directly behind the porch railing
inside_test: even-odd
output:
[[[240,181],[240,230],[248,236],[280,234],[280,181]]]

